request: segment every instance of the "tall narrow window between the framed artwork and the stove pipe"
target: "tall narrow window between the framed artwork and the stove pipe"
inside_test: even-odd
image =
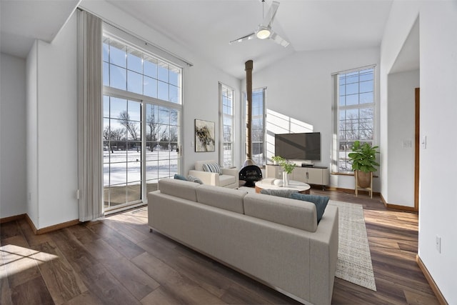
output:
[[[233,166],[233,89],[219,83],[221,99],[222,160],[224,167]]]

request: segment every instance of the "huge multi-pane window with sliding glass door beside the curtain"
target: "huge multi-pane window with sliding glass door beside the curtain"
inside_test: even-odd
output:
[[[182,69],[104,35],[104,209],[179,173]]]

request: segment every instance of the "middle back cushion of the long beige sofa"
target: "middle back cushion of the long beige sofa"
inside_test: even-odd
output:
[[[243,199],[248,192],[219,186],[201,185],[196,189],[196,194],[197,201],[200,204],[216,206],[220,209],[243,214]]]

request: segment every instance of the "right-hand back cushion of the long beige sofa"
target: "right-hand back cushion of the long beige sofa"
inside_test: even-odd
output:
[[[244,214],[310,232],[317,229],[316,206],[311,202],[265,194],[247,194]]]

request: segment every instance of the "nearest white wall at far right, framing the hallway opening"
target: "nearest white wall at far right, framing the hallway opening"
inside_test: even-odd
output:
[[[426,149],[420,152],[418,255],[448,304],[457,304],[454,279],[457,273],[457,142],[453,141],[453,131],[457,129],[456,1],[393,2],[381,47],[381,101],[390,106],[387,101],[388,71],[418,14],[420,128],[421,136],[427,137]],[[388,141],[387,132],[383,136],[384,141]],[[388,185],[383,184],[383,188],[387,189]],[[441,253],[435,246],[436,236],[441,237]]]

